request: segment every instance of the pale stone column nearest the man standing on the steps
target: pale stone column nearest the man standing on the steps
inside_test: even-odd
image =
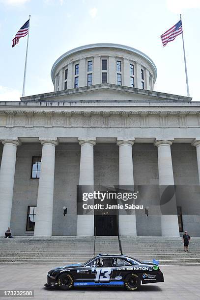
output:
[[[154,145],[158,147],[158,175],[160,186],[174,186],[171,144],[172,142],[168,140],[156,140],[154,143]],[[167,203],[166,205],[169,204]],[[161,215],[162,236],[180,236],[175,195],[171,199],[170,206],[173,208],[174,214]]]

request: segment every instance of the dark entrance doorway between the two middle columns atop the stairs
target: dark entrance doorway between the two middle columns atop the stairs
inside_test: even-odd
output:
[[[117,215],[94,215],[96,235],[117,235]]]

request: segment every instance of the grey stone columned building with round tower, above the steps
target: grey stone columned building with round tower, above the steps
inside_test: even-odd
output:
[[[0,102],[0,235],[8,226],[14,235],[93,235],[95,226],[112,235],[118,226],[121,235],[200,236],[199,192],[194,213],[181,200],[167,216],[76,212],[77,185],[198,187],[200,102],[154,91],[155,64],[123,45],[68,51],[51,75],[54,92]]]

